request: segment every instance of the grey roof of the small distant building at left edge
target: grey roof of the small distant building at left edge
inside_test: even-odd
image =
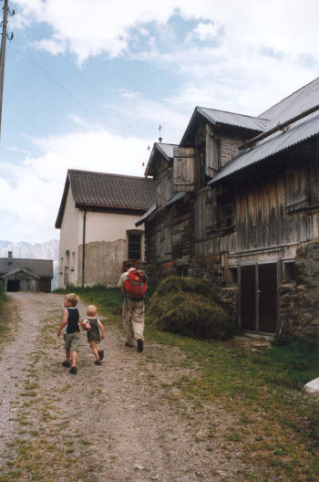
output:
[[[7,257],[0,257],[0,276],[20,268],[27,269],[40,278],[53,278],[52,259],[24,259],[13,257],[9,262]]]

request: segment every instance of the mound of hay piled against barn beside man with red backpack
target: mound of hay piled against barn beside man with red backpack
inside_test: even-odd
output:
[[[149,300],[147,320],[159,330],[193,338],[228,340],[232,322],[214,300],[208,279],[169,277]]]

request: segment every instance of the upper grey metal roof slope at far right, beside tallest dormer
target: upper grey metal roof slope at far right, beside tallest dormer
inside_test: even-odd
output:
[[[278,122],[288,121],[316,104],[319,104],[319,77],[265,110],[259,117],[270,119],[267,129],[271,129]]]

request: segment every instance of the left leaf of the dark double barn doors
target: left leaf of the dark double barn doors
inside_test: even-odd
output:
[[[256,330],[256,264],[240,269],[240,317],[242,330]]]

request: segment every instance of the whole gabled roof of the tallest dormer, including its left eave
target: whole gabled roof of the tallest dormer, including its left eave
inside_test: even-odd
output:
[[[184,135],[180,141],[180,147],[182,147],[187,141],[190,132],[199,118],[204,118],[212,125],[218,125],[220,127],[223,125],[233,126],[237,129],[243,129],[247,133],[252,132],[252,135],[253,132],[259,133],[264,131],[268,128],[269,124],[269,120],[267,118],[263,119],[262,117],[252,117],[236,112],[228,112],[227,110],[208,109],[206,107],[197,106],[193,111],[189,125],[187,126],[186,131],[184,132]]]

